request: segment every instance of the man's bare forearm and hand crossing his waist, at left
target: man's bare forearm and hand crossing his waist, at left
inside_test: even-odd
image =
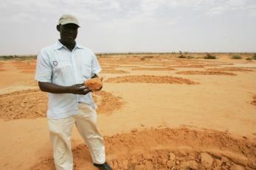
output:
[[[73,94],[87,94],[91,92],[84,84],[77,84],[72,86],[55,85],[50,82],[38,82],[41,91],[49,93],[73,93]]]

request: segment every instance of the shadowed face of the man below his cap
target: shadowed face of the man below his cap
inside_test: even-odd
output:
[[[75,38],[77,38],[77,29],[78,26],[76,24],[60,25],[58,29],[60,32],[60,40],[67,44],[75,43]]]

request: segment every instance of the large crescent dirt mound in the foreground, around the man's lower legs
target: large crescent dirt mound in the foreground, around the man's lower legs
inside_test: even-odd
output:
[[[105,150],[108,163],[118,170],[256,169],[253,139],[214,130],[133,130],[106,137]],[[85,144],[76,146],[73,156],[75,169],[94,169]],[[31,169],[54,169],[52,155]]]

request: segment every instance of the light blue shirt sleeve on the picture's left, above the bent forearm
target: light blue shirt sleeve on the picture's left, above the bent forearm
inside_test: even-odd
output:
[[[38,82],[52,82],[52,65],[50,64],[48,54],[43,50],[38,53],[35,80]]]

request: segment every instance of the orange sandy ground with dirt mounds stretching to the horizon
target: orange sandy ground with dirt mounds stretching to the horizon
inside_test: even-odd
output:
[[[243,57],[246,58],[246,57]],[[256,169],[256,61],[101,57],[94,93],[114,169]],[[0,169],[55,169],[35,60],[0,61]],[[75,169],[94,169],[73,129]]]

